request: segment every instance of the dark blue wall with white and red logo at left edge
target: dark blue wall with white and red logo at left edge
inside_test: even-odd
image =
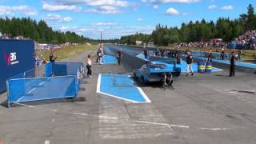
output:
[[[0,39],[0,93],[6,80],[34,69],[34,41]]]

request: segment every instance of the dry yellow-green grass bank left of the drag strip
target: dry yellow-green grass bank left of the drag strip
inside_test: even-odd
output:
[[[82,53],[87,50],[94,50],[97,49],[98,46],[95,45],[78,45],[78,46],[66,46],[65,48],[62,48],[61,50],[55,50],[54,55],[57,56],[57,61],[72,57],[76,54]],[[46,58],[46,60],[49,60],[50,51],[49,50],[41,50],[37,51],[36,54],[38,54],[39,58]]]

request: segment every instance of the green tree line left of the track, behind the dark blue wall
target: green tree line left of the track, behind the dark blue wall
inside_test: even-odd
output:
[[[36,22],[30,18],[0,18],[0,32],[8,34],[10,38],[23,36],[32,38],[36,42],[59,44],[65,42],[79,43],[89,42],[89,38],[80,36],[74,32],[54,31],[46,22]]]

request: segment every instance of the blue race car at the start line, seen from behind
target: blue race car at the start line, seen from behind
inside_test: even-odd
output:
[[[140,69],[134,70],[134,78],[147,82],[161,82],[166,76],[166,80],[170,81],[173,76],[179,77],[181,68],[163,63],[154,62],[143,65]]]

